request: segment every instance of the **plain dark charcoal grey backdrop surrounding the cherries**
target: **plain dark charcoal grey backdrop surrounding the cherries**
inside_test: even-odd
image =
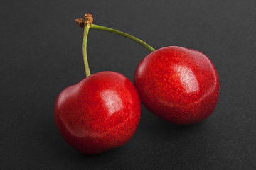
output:
[[[1,1],[0,169],[256,169],[256,1]],[[220,77],[213,115],[171,125],[142,107],[126,145],[88,156],[55,127],[53,105],[85,78],[83,30],[95,24],[141,38],[155,49],[177,45],[205,53]],[[90,30],[92,73],[133,79],[149,54],[119,35]]]

